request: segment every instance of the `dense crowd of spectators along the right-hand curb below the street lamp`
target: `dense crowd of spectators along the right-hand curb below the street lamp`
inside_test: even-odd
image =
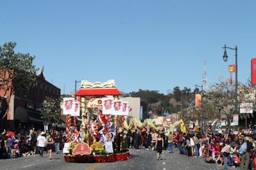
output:
[[[255,134],[248,131],[238,131],[234,134],[230,129],[222,133],[214,133],[209,129],[206,134],[190,132],[177,133],[179,153],[186,157],[204,158],[205,162],[216,163],[228,169],[228,166],[248,169],[253,167],[253,157],[256,151]],[[246,144],[244,152],[242,145]]]

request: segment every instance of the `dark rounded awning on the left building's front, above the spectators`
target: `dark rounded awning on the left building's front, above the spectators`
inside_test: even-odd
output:
[[[16,108],[14,119],[19,120],[21,123],[44,122],[40,113],[33,113],[21,107]]]

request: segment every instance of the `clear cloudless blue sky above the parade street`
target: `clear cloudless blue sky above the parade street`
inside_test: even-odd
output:
[[[121,92],[195,89],[230,77],[237,45],[238,81],[256,58],[256,1],[3,1],[0,45],[35,55],[45,79],[74,92],[75,81],[115,80]],[[205,65],[206,63],[206,65]],[[232,74],[235,80],[235,74]],[[79,89],[79,83],[77,83]]]

